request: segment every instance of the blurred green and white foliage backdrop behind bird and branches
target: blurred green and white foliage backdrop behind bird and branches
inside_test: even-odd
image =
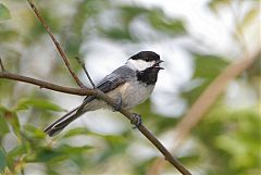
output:
[[[176,126],[208,85],[231,63],[260,51],[259,0],[35,2],[86,85],[75,57],[97,83],[140,50],[161,55],[165,71],[134,111],[192,174],[261,173],[260,58],[173,149]],[[9,72],[76,87],[26,0],[0,1],[0,57]],[[42,133],[82,100],[0,79],[0,173],[178,174],[117,113],[90,112],[54,138]]]

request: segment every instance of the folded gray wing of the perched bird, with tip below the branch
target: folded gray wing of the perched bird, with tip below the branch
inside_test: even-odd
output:
[[[103,79],[99,82],[99,84],[96,86],[96,88],[100,89],[103,92],[111,91],[115,89],[117,86],[126,83],[130,78],[135,77],[136,73],[128,68],[126,65],[123,65],[115,71],[113,71],[111,74],[107,75]],[[94,96],[88,96],[84,99],[82,108],[85,107],[87,103],[96,99]],[[82,109],[79,108],[79,110]]]

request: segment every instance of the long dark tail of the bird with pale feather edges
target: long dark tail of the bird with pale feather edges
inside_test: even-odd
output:
[[[82,107],[82,105],[80,105]],[[72,111],[67,112],[65,115],[61,116],[59,120],[51,123],[49,126],[47,126],[44,132],[49,136],[52,137],[60,132],[64,127],[66,127],[71,122],[76,120],[78,116],[80,116],[84,112],[80,109],[80,107],[77,107],[73,109]]]

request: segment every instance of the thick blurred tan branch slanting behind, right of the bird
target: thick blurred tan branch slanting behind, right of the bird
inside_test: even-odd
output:
[[[261,57],[261,50],[257,51],[251,57],[246,57],[240,61],[236,61],[228,65],[200,95],[197,101],[192,104],[187,114],[183,117],[179,124],[175,128],[175,145],[172,150],[175,150],[181,146],[182,141],[189,135],[191,129],[202,120],[209,108],[224,91],[227,84],[240,75],[244,71],[248,70],[258,59]],[[151,167],[153,172],[149,171],[147,175],[160,174],[160,171],[164,167],[165,163],[163,159],[157,159]],[[156,172],[157,171],[157,172]]]

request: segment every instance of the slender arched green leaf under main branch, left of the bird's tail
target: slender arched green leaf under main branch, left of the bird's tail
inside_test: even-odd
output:
[[[14,108],[14,111],[27,110],[29,107],[34,107],[40,110],[50,110],[58,112],[64,111],[61,107],[48,100],[34,98],[20,100],[16,107]]]

